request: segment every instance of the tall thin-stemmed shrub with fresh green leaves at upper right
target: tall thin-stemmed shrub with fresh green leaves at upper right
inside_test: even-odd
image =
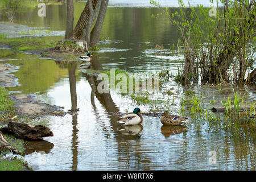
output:
[[[160,8],[157,1],[150,3]],[[193,7],[190,3],[186,7],[179,0],[179,11],[170,13],[167,7],[152,15],[152,18],[165,15],[181,34],[179,46],[183,46],[185,65],[181,78],[177,78],[185,84],[198,81],[199,74],[203,82],[210,84],[245,82],[246,70],[255,61],[255,2],[227,0],[220,3],[224,7]],[[232,67],[233,79],[228,74]]]

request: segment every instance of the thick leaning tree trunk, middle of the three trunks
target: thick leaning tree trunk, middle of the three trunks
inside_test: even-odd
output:
[[[97,15],[97,10],[100,7],[101,0],[88,0],[82,14],[73,31],[73,39],[85,40],[90,39],[90,29]]]

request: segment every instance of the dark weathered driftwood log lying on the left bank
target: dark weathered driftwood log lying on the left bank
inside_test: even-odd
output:
[[[43,137],[53,137],[52,131],[45,126],[35,127],[20,122],[9,122],[7,127],[0,129],[3,133],[13,133],[16,137],[27,140],[42,140]]]

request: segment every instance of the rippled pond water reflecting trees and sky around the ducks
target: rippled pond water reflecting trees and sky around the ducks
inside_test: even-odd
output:
[[[83,7],[84,3],[75,3],[75,23]],[[110,6],[102,28],[100,50],[94,53],[91,69],[115,68],[131,73],[165,69],[177,75],[183,56],[170,51],[170,46],[177,43],[179,32],[166,18],[151,18],[156,13],[159,10],[152,7]],[[17,23],[49,27],[63,34],[65,6],[47,6],[46,18],[38,17],[37,10],[33,10],[20,15]],[[156,44],[163,45],[164,50],[155,50]],[[250,122],[236,121],[238,129],[234,129],[233,122],[230,127],[226,127],[229,121],[212,124],[203,117],[192,119],[186,111],[186,116],[191,118],[186,125],[187,132],[182,126],[164,127],[159,118],[150,116],[143,117],[141,125],[121,127],[116,122],[117,112],[132,111],[136,106],[148,112],[153,106],[138,105],[115,90],[98,93],[97,77],[77,65],[64,65],[20,52],[3,58],[3,52],[7,51],[12,52],[0,50],[0,63],[19,66],[12,74],[19,78],[20,86],[8,88],[10,92],[36,94],[39,100],[63,106],[64,111],[80,110],[64,117],[29,121],[32,125],[48,126],[54,134],[44,142],[28,144],[24,159],[34,170],[255,170],[256,135]],[[150,96],[151,100],[159,101],[154,108],[159,106],[161,111],[170,109],[178,114],[188,87],[169,81],[164,88],[174,95]],[[221,106],[223,98],[233,96],[233,89],[246,93],[248,102],[256,99],[255,86],[189,88],[195,95],[203,95],[204,110]],[[209,104],[213,98],[216,102]],[[209,162],[213,153],[216,163]]]

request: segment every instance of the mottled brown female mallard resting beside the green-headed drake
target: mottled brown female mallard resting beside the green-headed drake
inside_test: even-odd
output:
[[[168,111],[165,111],[160,121],[163,125],[177,126],[181,125],[182,123],[187,123],[189,120],[188,118],[184,118],[179,115],[170,115]]]

